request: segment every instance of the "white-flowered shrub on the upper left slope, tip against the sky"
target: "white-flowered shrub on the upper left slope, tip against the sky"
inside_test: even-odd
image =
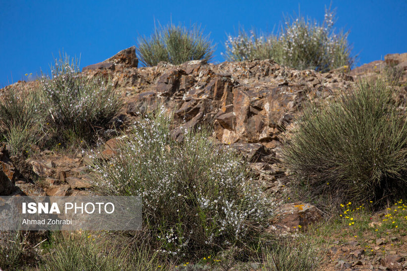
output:
[[[43,76],[41,86],[50,123],[59,133],[80,139],[93,139],[122,106],[110,79],[88,79],[79,74],[77,59],[68,55],[55,60],[51,78]]]

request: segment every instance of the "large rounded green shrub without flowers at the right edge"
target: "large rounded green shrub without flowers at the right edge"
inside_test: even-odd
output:
[[[385,82],[359,83],[334,103],[304,106],[285,162],[314,196],[344,202],[406,197],[407,116]]]

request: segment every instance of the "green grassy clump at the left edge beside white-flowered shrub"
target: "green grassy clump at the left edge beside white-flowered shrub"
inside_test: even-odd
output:
[[[0,129],[12,155],[22,157],[41,139],[45,110],[36,89],[7,87],[0,94]]]

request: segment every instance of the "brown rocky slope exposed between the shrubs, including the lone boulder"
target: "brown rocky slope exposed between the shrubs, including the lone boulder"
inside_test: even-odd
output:
[[[349,71],[341,67],[329,73],[296,70],[272,60],[205,64],[190,61],[179,66],[159,63],[137,67],[135,48],[84,67],[84,76],[110,77],[123,94],[125,106],[112,120],[112,127],[126,129],[139,116],[164,105],[174,112],[174,137],[182,140],[180,127],[213,124],[213,138],[243,154],[257,173],[267,193],[287,194],[286,170],[280,163],[281,143],[295,127],[295,119],[307,100],[328,100],[350,90],[357,78],[377,76],[386,65],[402,71],[399,98],[407,97],[407,53],[387,55],[384,61]],[[34,86],[36,82],[18,82]],[[109,131],[106,132],[109,134]],[[115,139],[104,146],[104,155],[114,155]],[[39,151],[25,163],[13,163],[5,147],[0,152],[0,195],[26,194],[68,196],[87,193],[83,173],[86,154]],[[21,164],[25,164],[21,166]],[[28,170],[28,171],[27,171]],[[40,182],[27,181],[31,170]],[[19,172],[21,171],[21,173]],[[14,184],[19,188],[12,192]],[[319,211],[308,204],[286,204],[275,229],[293,231],[319,220]]]

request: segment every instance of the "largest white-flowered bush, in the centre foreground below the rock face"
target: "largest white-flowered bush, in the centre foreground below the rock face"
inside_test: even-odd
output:
[[[93,165],[96,190],[141,195],[150,244],[176,259],[254,241],[273,205],[247,166],[208,140],[205,129],[185,130],[184,140],[175,141],[163,110],[136,122],[118,153]]]

